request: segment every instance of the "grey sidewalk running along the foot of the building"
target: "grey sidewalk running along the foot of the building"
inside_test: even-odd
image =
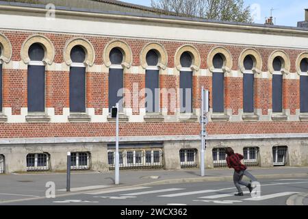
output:
[[[307,177],[308,167],[294,168],[248,168],[257,179],[293,179]],[[165,183],[195,183],[207,181],[232,181],[233,170],[120,170],[120,185],[114,185],[114,172],[72,172],[71,188],[76,192],[98,190],[114,186],[157,185]],[[0,175],[0,195],[21,194],[23,196],[44,196],[46,183],[53,181],[57,194],[65,194],[66,173]],[[89,188],[90,187],[90,188]],[[59,191],[62,190],[62,191]],[[12,197],[10,197],[12,198]],[[1,198],[6,199],[5,198]]]

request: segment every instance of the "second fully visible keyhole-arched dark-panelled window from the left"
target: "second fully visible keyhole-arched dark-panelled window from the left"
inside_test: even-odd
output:
[[[70,51],[70,112],[86,112],[86,52],[75,46]]]

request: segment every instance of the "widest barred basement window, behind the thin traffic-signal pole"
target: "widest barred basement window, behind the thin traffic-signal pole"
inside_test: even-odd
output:
[[[110,170],[115,168],[115,151],[108,152]],[[164,168],[163,153],[160,150],[123,150],[120,153],[120,169]]]

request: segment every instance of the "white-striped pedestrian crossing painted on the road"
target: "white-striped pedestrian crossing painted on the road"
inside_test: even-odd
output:
[[[298,183],[308,183],[305,182],[294,182]],[[290,185],[292,183],[269,183],[262,186],[268,187],[272,185]],[[243,187],[244,188],[244,187]],[[242,202],[257,202],[257,201],[266,201],[272,198],[279,198],[283,196],[292,196],[299,192],[276,192],[272,194],[261,194],[258,197],[252,197],[250,192],[244,191],[244,196],[234,196],[235,193],[228,190],[236,190],[235,188],[220,188],[214,190],[194,190],[191,191],[190,188],[164,188],[157,189],[153,187],[144,187],[136,186],[132,188],[112,188],[110,190],[102,190],[97,192],[88,192],[84,194],[94,195],[93,198],[107,198],[107,199],[127,199],[131,198],[140,198],[142,196],[156,196],[159,198],[182,198],[182,200],[191,200],[194,202],[203,202],[203,203],[216,203],[216,204],[233,204],[233,203],[242,203]],[[112,196],[99,196],[101,194],[107,194]],[[206,196],[202,196],[207,194]],[[235,200],[231,200],[234,197]]]

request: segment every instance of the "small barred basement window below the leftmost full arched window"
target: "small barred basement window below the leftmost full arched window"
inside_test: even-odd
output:
[[[27,155],[27,171],[49,170],[49,155],[47,153],[31,153]]]

